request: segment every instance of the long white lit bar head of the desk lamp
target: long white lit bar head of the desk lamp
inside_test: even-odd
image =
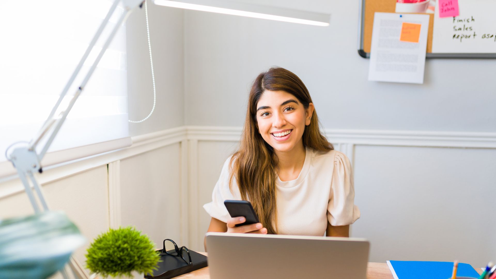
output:
[[[232,0],[154,0],[162,6],[218,12],[278,21],[329,26],[330,15],[302,10],[254,5]]]

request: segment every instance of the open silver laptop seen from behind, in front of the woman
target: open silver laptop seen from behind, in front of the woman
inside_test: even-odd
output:
[[[362,238],[207,232],[211,279],[366,279]]]

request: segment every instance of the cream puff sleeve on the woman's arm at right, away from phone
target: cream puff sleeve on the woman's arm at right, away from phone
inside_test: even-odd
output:
[[[333,226],[353,224],[360,218],[360,209],[354,204],[355,188],[351,163],[345,154],[336,151],[331,190],[327,204],[327,220]]]

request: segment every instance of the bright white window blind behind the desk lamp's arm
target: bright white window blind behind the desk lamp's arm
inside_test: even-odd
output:
[[[109,0],[1,3],[0,177],[15,173],[5,158],[7,146],[31,140],[41,128],[111,4]],[[118,7],[112,15],[63,102],[70,100],[123,12]],[[63,103],[61,108],[65,108]],[[42,165],[130,144],[125,26],[121,26]]]

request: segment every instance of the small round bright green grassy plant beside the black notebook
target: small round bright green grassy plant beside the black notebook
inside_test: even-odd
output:
[[[152,273],[160,259],[148,236],[131,226],[111,228],[99,235],[86,251],[86,267],[103,277],[131,277],[132,271]]]

